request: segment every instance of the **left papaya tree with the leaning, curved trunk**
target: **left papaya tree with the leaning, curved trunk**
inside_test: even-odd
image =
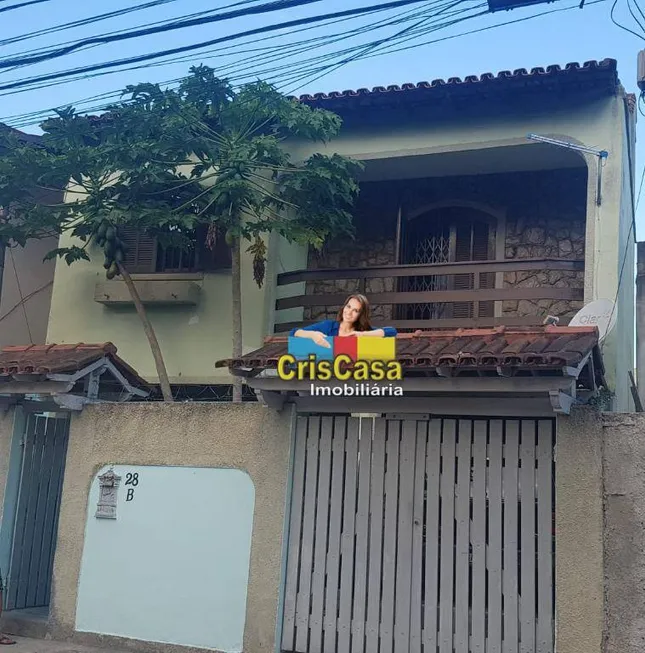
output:
[[[163,235],[194,224],[194,208],[186,204],[189,189],[177,187],[177,177],[155,167],[147,150],[154,138],[151,125],[140,126],[137,138],[123,129],[127,114],[97,121],[72,109],[45,122],[37,146],[18,139],[15,132],[0,132],[0,206],[8,217],[0,224],[0,239],[24,246],[29,239],[69,234],[75,244],[58,247],[46,259],[75,261],[102,256],[108,279],[123,278],[155,362],[164,401],[172,393],[162,351],[125,266],[125,245],[119,228],[134,226]],[[137,169],[141,164],[143,170]],[[46,197],[61,198],[47,203]],[[63,201],[64,198],[64,201]],[[176,204],[173,205],[173,202]]]

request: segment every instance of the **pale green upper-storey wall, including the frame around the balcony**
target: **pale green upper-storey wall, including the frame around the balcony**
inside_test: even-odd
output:
[[[484,161],[490,162],[490,171],[494,172],[504,165],[506,151],[524,146],[526,154],[520,157],[519,162],[517,157],[514,159],[513,169],[521,169],[522,165],[526,169],[535,169],[535,160],[544,160],[545,146],[529,142],[526,135],[530,132],[606,149],[610,153],[603,168],[603,202],[600,207],[595,204],[597,161],[594,156],[585,155],[589,166],[585,301],[614,299],[624,252],[619,234],[626,234],[625,230],[629,229],[628,223],[631,222],[629,205],[625,200],[628,190],[625,184],[629,183],[625,179],[629,173],[622,97],[597,100],[578,109],[566,108],[548,114],[534,111],[515,117],[482,118],[478,124],[472,121],[466,124],[445,120],[407,120],[394,127],[365,124],[346,129],[329,145],[316,149],[361,159],[368,166],[370,162],[393,157],[408,157],[419,162],[424,157],[428,159],[428,155],[439,154],[476,153],[481,157],[482,152],[490,149],[490,158],[486,154]],[[538,150],[531,148],[541,148],[540,157],[534,157],[532,153]],[[298,160],[314,150],[308,144],[294,143],[292,151],[294,160]],[[548,156],[552,156],[551,167],[557,167],[558,162],[567,161],[567,157],[570,164],[570,157],[577,155],[553,146],[553,155]],[[436,174],[449,174],[447,169],[441,172],[441,157],[435,156],[433,160]],[[485,173],[488,170],[480,169],[479,172]],[[396,174],[397,166],[392,166],[392,175]],[[450,174],[455,174],[455,171]],[[66,243],[63,239],[61,245]],[[145,378],[154,381],[156,374],[152,357],[134,309],[106,308],[93,301],[95,284],[103,279],[101,257],[97,256],[96,259],[95,263],[79,262],[71,268],[64,262],[57,263],[47,340],[112,340],[119,348],[119,353],[131,365]],[[301,319],[302,309],[275,312],[273,302],[276,296],[297,294],[303,288],[296,288],[294,284],[276,289],[274,284],[277,273],[306,267],[306,261],[304,248],[272,238],[267,281],[262,289],[258,289],[252,279],[250,257],[244,255],[245,351],[259,347],[263,337],[272,332],[274,322]],[[628,260],[624,277],[631,279],[631,275]],[[171,380],[175,383],[230,382],[231,377],[227,371],[215,370],[213,367],[215,360],[228,357],[231,351],[230,275],[206,275],[202,285],[202,300],[197,307],[155,308],[150,311],[167,359]],[[627,287],[630,284],[624,285]],[[628,290],[624,292],[627,293]],[[633,368],[633,363],[618,368],[616,350],[616,343],[620,342],[620,361],[626,363],[633,359],[634,330],[629,315],[632,309],[624,308],[623,304],[626,303],[628,302],[621,302],[618,326],[605,347],[607,377],[611,387],[619,392],[617,408],[620,410],[629,409],[631,399],[629,393],[625,392],[628,386],[623,377],[626,377],[627,369]],[[617,369],[621,370],[620,374],[617,374]]]

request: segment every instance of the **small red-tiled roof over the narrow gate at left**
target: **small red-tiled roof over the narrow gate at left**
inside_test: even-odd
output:
[[[0,376],[70,374],[107,357],[134,385],[147,385],[116,352],[117,348],[111,342],[7,346],[0,350]]]

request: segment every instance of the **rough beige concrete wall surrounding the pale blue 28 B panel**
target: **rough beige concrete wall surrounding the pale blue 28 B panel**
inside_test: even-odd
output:
[[[273,653],[280,596],[290,446],[290,416],[278,415],[259,405],[104,405],[88,407],[81,415],[75,416],[70,432],[54,563],[51,603],[53,635],[72,637],[86,643],[104,641],[118,646],[138,644],[136,640],[122,637],[106,639],[96,634],[75,632],[81,561],[84,556],[87,559],[91,555],[95,563],[100,562],[96,560],[96,551],[86,549],[91,546],[86,531],[87,516],[95,510],[95,504],[91,505],[88,499],[100,469],[108,464],[123,469],[150,465],[211,470],[230,468],[246,472],[255,488],[243,650],[248,653]],[[166,491],[172,492],[171,484]],[[119,509],[122,508],[120,506]],[[199,513],[208,509],[208,497],[195,499],[192,510]],[[204,522],[207,521],[205,517]],[[165,528],[174,527],[172,519],[165,524]],[[163,531],[159,537],[164,537]],[[226,533],[222,532],[220,537],[226,537]],[[95,539],[92,542],[96,544]],[[216,555],[215,544],[212,551],[211,569],[204,570],[206,576],[212,575],[213,569],[217,571],[218,565],[227,565],[225,557],[220,559]],[[176,551],[177,556],[183,553],[185,552]],[[121,554],[125,555],[125,552],[119,555]],[[208,606],[203,605],[192,606],[188,596],[182,599],[178,597],[174,588],[179,585],[183,587],[185,581],[174,582],[176,570],[169,562],[162,584],[165,595],[157,596],[156,600],[162,604],[165,602],[166,608],[174,609],[176,619],[179,620],[184,618],[186,611],[208,609]],[[219,573],[225,571],[220,568]],[[195,579],[195,583],[198,585],[199,579]],[[81,584],[81,589],[82,587]],[[113,601],[120,601],[122,589],[120,586],[113,588]],[[105,600],[110,600],[111,595],[108,587]],[[216,622],[225,618],[214,606],[215,603],[210,604],[211,619]],[[151,639],[152,637],[146,641]],[[151,643],[143,648],[156,652],[175,647]]]

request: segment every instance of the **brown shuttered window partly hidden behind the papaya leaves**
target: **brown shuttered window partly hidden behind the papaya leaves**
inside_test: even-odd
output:
[[[167,246],[154,236],[131,227],[119,229],[127,251],[125,265],[132,274],[212,272],[231,267],[231,250],[223,234],[218,234],[213,248],[206,246],[206,227],[191,234],[193,245],[186,249]]]

